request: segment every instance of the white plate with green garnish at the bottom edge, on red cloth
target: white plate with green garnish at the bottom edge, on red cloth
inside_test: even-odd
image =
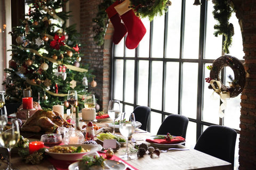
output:
[[[68,166],[69,170],[79,170],[81,168],[79,168],[79,162],[75,162],[73,164],[70,164]],[[125,169],[125,165],[123,163],[119,163],[115,160],[105,160],[104,162],[104,166],[100,167],[100,166],[92,166],[90,167],[91,170],[93,169],[97,169],[97,170],[103,170],[103,169],[116,169],[116,170],[124,170]]]

